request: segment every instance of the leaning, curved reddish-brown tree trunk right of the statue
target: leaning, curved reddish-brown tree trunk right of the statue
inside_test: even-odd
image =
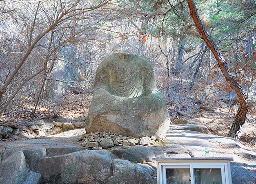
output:
[[[229,72],[227,63],[226,63],[223,55],[218,50],[218,47],[214,44],[212,39],[209,37],[209,35],[205,31],[205,28],[198,16],[196,5],[195,5],[194,1],[187,0],[187,4],[189,5],[191,17],[193,18],[193,20],[195,22],[195,26],[196,26],[198,32],[200,33],[202,39],[205,41],[207,46],[211,49],[212,53],[214,54],[214,57],[218,61],[220,70],[222,71],[227,82],[232,86],[232,88],[236,91],[236,94],[238,95],[240,106],[238,108],[238,111],[236,113],[236,116],[234,118],[234,121],[233,121],[233,124],[229,131],[228,136],[239,140],[241,133],[242,133],[243,125],[246,121],[247,112],[248,112],[248,108],[249,108],[247,96],[245,95],[245,92],[244,92],[243,88],[241,87],[241,85],[238,83],[238,81],[236,81],[234,76]]]

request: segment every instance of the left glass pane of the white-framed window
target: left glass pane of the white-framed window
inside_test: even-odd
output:
[[[167,184],[191,184],[190,169],[166,169]]]

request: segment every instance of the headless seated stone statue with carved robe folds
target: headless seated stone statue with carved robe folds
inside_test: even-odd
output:
[[[170,124],[151,64],[138,55],[117,53],[97,68],[86,132],[163,136]]]

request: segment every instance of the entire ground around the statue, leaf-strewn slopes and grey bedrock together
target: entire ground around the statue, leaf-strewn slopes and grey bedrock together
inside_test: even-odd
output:
[[[90,101],[91,96],[67,95],[51,107],[39,106],[36,117],[32,119],[30,114],[33,101],[25,99],[20,109],[1,114],[0,171],[4,168],[2,171],[8,172],[7,175],[15,174],[16,167],[11,165],[18,164],[19,168],[23,168],[18,171],[22,175],[15,175],[13,178],[17,181],[25,180],[26,184],[70,181],[91,184],[113,183],[114,180],[126,180],[130,184],[154,184],[156,163],[152,158],[163,158],[164,153],[169,158],[204,157],[204,149],[207,146],[210,157],[234,158],[231,164],[233,184],[256,183],[256,116],[253,109],[249,111],[239,141],[225,137],[238,108],[237,104],[225,101],[207,106],[167,105],[173,124],[170,125],[166,136],[134,138],[111,132],[85,132],[84,120]],[[189,123],[184,123],[183,119],[187,119]],[[176,120],[182,120],[182,124],[189,125],[176,125]],[[92,151],[90,155],[93,158],[87,158],[86,151]],[[111,164],[105,165],[106,168],[95,166],[95,159],[101,158],[105,159],[102,162]],[[66,163],[67,159],[71,160],[73,165]],[[82,166],[81,160],[87,160],[86,163],[89,164]],[[62,161],[64,168],[57,164]],[[46,170],[42,170],[42,165],[38,163],[45,164]],[[135,171],[131,177],[120,175],[121,171],[131,175],[127,166]],[[82,168],[87,169],[85,172],[90,172],[93,167],[98,170],[107,169],[106,175],[95,173],[82,176],[80,173]],[[55,170],[50,174],[48,170],[52,168]],[[4,172],[1,175],[4,175]],[[81,177],[76,178],[77,175]],[[139,175],[148,177],[138,177]],[[67,180],[67,177],[71,179]],[[82,181],[85,177],[89,180]]]

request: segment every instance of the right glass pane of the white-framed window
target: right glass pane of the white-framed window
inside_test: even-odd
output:
[[[222,184],[220,168],[194,169],[194,172],[196,184]]]

